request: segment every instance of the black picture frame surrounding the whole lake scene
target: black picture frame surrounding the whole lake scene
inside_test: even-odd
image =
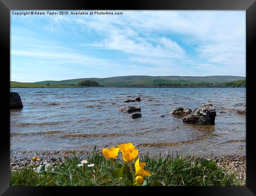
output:
[[[254,132],[253,121],[250,116],[255,116],[253,111],[254,96],[254,75],[255,75],[255,43],[256,43],[256,2],[255,0],[130,0],[130,1],[87,1],[87,0],[0,0],[0,42],[2,49],[2,68],[6,67],[10,71],[10,10],[53,10],[53,9],[79,9],[79,10],[246,10],[246,158],[247,158],[247,179],[245,187],[114,187],[115,192],[110,191],[111,187],[11,187],[10,186],[10,167],[9,167],[9,129],[8,119],[3,120],[4,128],[1,131],[1,167],[0,167],[0,194],[2,195],[66,195],[70,194],[95,194],[93,191],[104,191],[104,194],[130,194],[137,192],[151,192],[156,189],[165,189],[169,194],[187,193],[189,195],[256,195],[256,166],[254,159],[256,151],[254,149]],[[6,71],[6,72],[7,72]],[[10,76],[2,71],[4,76],[4,96],[5,112],[7,116],[9,108],[9,81]],[[6,104],[5,104],[6,103]],[[254,112],[254,113],[253,113]],[[252,117],[253,118],[253,117]],[[112,188],[111,188],[112,189]],[[126,189],[126,192],[122,190]],[[152,190],[151,190],[152,189]],[[78,191],[81,191],[78,193]],[[161,191],[161,190],[160,190]],[[135,193],[136,192],[136,193]],[[159,192],[166,194],[164,192]],[[158,193],[158,194],[159,194]]]

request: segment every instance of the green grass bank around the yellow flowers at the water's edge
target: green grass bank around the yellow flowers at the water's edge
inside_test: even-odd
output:
[[[94,163],[94,167],[78,167],[81,159],[73,154],[64,162],[50,166],[50,171],[38,174],[33,169],[20,168],[10,173],[11,186],[119,186],[121,181],[113,178],[108,168],[113,169],[109,159],[104,158],[98,151],[87,155],[87,164]],[[116,159],[117,168],[122,160]],[[195,156],[182,157],[173,154],[165,156],[141,155],[140,162],[145,162],[145,169],[152,176],[149,182],[163,181],[165,186],[239,186],[240,181],[233,175],[224,174],[221,169],[207,169],[200,164]],[[133,164],[134,165],[134,164]]]

